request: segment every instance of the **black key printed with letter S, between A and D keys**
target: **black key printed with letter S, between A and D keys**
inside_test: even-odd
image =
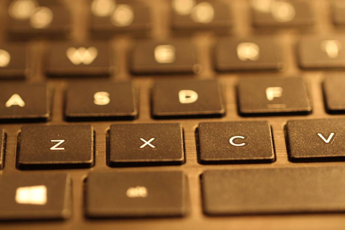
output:
[[[137,99],[130,82],[71,84],[67,90],[67,120],[135,119]]]

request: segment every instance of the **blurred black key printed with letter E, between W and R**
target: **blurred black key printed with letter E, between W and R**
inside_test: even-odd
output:
[[[200,72],[190,39],[166,42],[137,41],[131,58],[133,74],[176,74]]]

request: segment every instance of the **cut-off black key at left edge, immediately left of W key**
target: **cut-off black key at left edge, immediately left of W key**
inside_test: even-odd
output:
[[[28,66],[26,44],[7,43],[0,46],[0,79],[25,78],[32,74]]]

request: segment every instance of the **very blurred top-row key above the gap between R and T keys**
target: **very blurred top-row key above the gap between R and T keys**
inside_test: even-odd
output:
[[[312,26],[311,2],[306,0],[251,0],[255,27]]]

